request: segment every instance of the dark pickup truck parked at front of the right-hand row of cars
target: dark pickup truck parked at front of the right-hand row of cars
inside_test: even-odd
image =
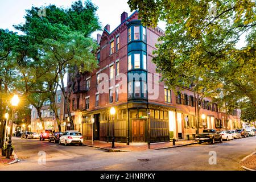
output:
[[[196,135],[196,140],[198,140],[199,143],[210,142],[210,143],[214,144],[216,140],[218,142],[222,143],[221,135],[216,130],[213,130],[213,129],[203,130],[203,133]]]

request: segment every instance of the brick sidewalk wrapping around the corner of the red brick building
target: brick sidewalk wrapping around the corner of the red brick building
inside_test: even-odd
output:
[[[126,143],[119,143],[115,142],[115,148],[112,148],[112,142],[102,142],[102,141],[93,141],[92,140],[84,140],[84,145],[89,147],[96,147],[101,148],[104,150],[108,150],[110,152],[130,152],[130,151],[145,151],[145,150],[160,150],[164,148],[173,148],[173,147],[181,147],[181,146],[187,146],[189,144],[196,144],[197,142],[195,140],[184,140],[175,142],[175,146],[172,144],[172,142],[157,142],[157,143],[151,143],[150,149],[148,149],[148,144],[146,142],[143,143],[130,143],[129,146],[127,146]]]

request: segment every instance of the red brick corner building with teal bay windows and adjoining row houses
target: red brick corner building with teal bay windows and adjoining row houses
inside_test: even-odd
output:
[[[123,12],[117,28],[110,32],[106,25],[102,35],[98,34],[99,68],[77,76],[70,97],[73,121],[85,139],[91,140],[93,135],[94,140],[110,141],[113,125],[115,141],[127,144],[195,138],[195,94],[184,88],[176,96],[159,82],[152,63],[160,36],[164,36],[160,28],[142,26],[138,11],[129,17]],[[241,127],[238,114],[222,114],[210,101],[205,98],[200,110],[200,115],[207,116],[200,122],[200,131],[223,129],[227,120],[228,129]],[[114,117],[110,107],[115,108]]]

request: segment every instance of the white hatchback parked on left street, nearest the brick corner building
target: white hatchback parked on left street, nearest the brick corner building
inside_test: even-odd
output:
[[[82,145],[83,137],[79,131],[65,131],[59,140],[59,144],[64,143],[65,146],[69,144],[79,144]]]

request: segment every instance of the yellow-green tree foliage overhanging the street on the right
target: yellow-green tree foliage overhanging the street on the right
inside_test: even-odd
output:
[[[144,25],[155,27],[158,20],[167,23],[153,62],[172,88],[191,84],[203,71],[202,75],[207,73],[216,80],[215,86],[221,86],[226,98],[235,100],[237,105],[249,99],[256,107],[254,1],[128,3],[131,10],[139,10]],[[247,34],[246,45],[237,48],[243,34]],[[201,86],[207,88],[208,83]]]

